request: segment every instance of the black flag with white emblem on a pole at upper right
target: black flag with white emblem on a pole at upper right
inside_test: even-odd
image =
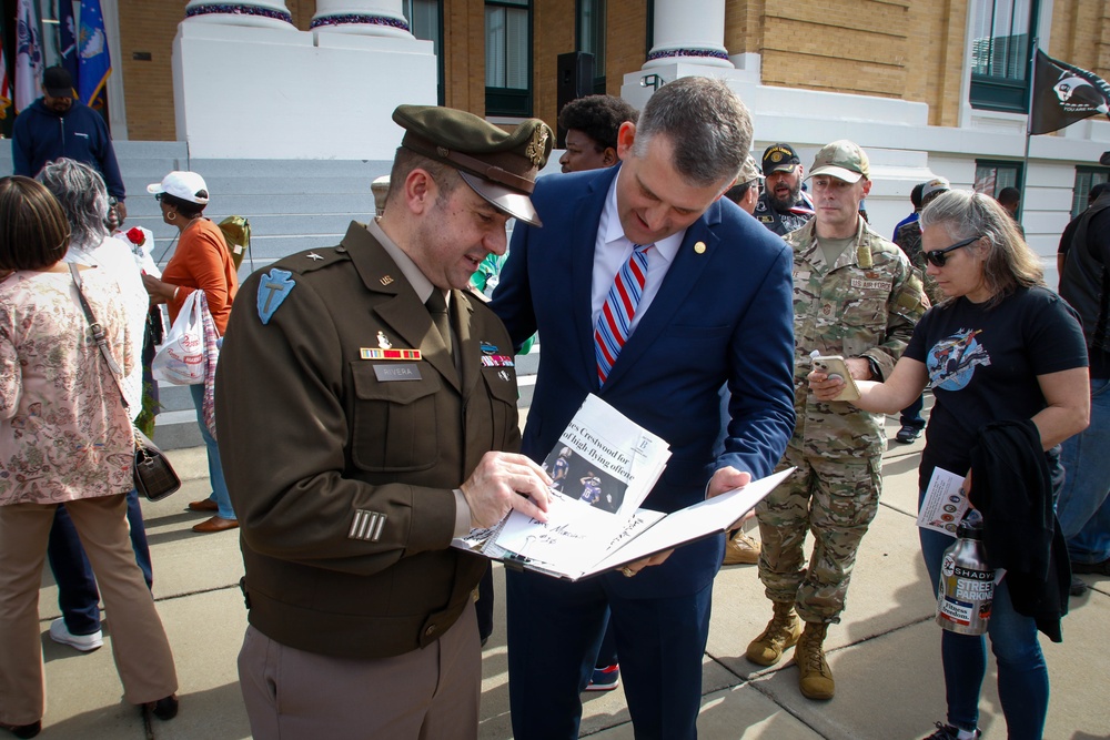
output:
[[[1100,113],[1110,118],[1110,85],[1038,49],[1029,133],[1051,133]]]

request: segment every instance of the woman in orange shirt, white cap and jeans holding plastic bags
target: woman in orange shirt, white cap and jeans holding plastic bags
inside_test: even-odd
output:
[[[170,321],[178,317],[178,312],[185,298],[195,290],[204,291],[209,311],[215,322],[216,331],[223,335],[231,315],[231,304],[239,290],[239,277],[231,253],[223,241],[220,229],[202,214],[209,202],[208,185],[204,179],[195,172],[171,172],[160,183],[148,185],[147,191],[154,194],[162,206],[162,221],[176,226],[180,231],[178,249],[162,271],[162,280],[143,275],[147,292],[152,303],[165,303],[170,310]],[[208,448],[209,477],[212,481],[212,495],[206,499],[193,501],[189,508],[193,511],[212,511],[211,519],[193,527],[193,531],[223,531],[239,526],[235,511],[231,508],[228,496],[228,485],[223,479],[223,468],[220,465],[220,448],[209,434],[201,415],[204,399],[204,385],[189,386],[196,406],[198,423],[201,436]]]

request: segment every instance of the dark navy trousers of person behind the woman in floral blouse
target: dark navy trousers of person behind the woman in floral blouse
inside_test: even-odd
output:
[[[139,494],[134,490],[128,494],[128,524],[131,525],[131,547],[135,553],[135,562],[147,580],[147,588],[150,588],[154,582],[150,547],[147,544],[147,527],[142,520]],[[59,506],[54,511],[47,557],[54,574],[54,582],[58,584],[58,607],[62,610],[65,629],[70,635],[91,635],[99,630],[100,591],[97,589],[97,579],[64,506]]]

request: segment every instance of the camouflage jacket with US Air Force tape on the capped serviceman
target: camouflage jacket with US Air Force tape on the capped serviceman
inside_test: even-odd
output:
[[[823,456],[881,455],[882,416],[809,393],[809,353],[874,359],[882,379],[901,356],[929,307],[921,280],[900,249],[859,219],[856,247],[831,268],[817,244],[813,220],[784,239],[794,249],[794,407],[790,445]]]

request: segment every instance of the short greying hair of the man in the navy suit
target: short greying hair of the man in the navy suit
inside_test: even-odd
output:
[[[633,154],[644,156],[652,136],[674,146],[672,164],[690,184],[728,185],[751,146],[751,114],[722,80],[685,77],[652,95],[636,124]]]

